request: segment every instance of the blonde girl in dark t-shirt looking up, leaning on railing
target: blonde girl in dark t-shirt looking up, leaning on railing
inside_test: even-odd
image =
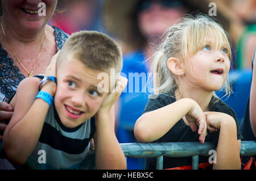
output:
[[[154,55],[154,89],[134,127],[139,142],[213,142],[213,169],[240,169],[242,135],[236,113],[218,99],[222,87],[230,93],[227,76],[231,50],[228,35],[205,15],[187,16],[168,28]],[[208,162],[199,157],[199,163]],[[191,157],[164,157],[163,168],[191,165]],[[146,167],[155,168],[155,158]]]

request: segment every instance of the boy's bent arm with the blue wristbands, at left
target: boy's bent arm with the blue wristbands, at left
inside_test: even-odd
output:
[[[39,140],[49,104],[42,99],[35,99],[41,79],[28,77],[20,82],[15,95],[15,110],[3,135],[3,148],[7,158],[18,165],[23,165]],[[55,86],[55,87],[54,87]],[[55,83],[47,83],[42,91],[51,95]]]

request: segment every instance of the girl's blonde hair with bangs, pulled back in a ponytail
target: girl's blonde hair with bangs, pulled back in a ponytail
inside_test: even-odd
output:
[[[228,34],[220,24],[206,15],[200,14],[195,17],[188,15],[179,19],[177,24],[167,29],[162,36],[162,42],[153,55],[152,72],[157,73],[157,78],[156,76],[153,78],[155,94],[179,89],[179,83],[167,67],[168,59],[179,57],[181,65],[189,63],[185,61],[188,61],[189,57],[195,55],[198,50],[207,45],[209,36],[216,40],[215,43],[218,47],[226,48],[230,60],[231,48]],[[229,95],[231,88],[228,78],[224,84],[225,95]]]

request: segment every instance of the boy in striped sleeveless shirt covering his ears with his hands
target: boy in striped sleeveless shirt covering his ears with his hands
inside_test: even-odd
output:
[[[110,37],[95,31],[73,33],[43,80],[30,77],[18,86],[3,138],[7,158],[23,165],[30,155],[39,161],[45,153],[41,169],[79,169],[94,135],[96,169],[126,169],[112,106],[127,79],[109,81],[104,85],[108,92],[103,92],[98,74],[109,75],[110,68],[117,73],[122,69],[121,49]]]

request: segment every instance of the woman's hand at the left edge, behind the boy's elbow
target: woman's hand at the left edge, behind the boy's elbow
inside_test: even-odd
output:
[[[6,102],[0,102],[0,141],[3,140],[3,132],[7,127],[5,121],[9,122],[11,116],[13,116],[13,107]]]

